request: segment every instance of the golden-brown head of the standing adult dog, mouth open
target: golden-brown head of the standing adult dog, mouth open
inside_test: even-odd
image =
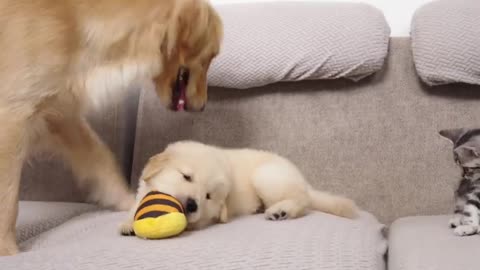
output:
[[[223,27],[205,0],[173,1],[161,44],[160,99],[173,110],[200,111],[207,102],[207,71],[220,50]]]

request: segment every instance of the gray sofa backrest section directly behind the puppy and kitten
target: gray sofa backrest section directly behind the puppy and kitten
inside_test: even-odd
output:
[[[478,126],[480,86],[421,84],[409,44],[394,38],[386,68],[358,83],[212,88],[200,114],[168,112],[143,92],[132,180],[168,143],[195,139],[275,151],[315,187],[355,199],[382,222],[449,213],[459,172],[450,143],[437,134]]]

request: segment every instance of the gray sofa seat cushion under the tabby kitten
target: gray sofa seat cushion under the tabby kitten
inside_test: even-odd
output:
[[[449,216],[408,217],[389,232],[389,270],[477,270],[480,237],[455,236]]]

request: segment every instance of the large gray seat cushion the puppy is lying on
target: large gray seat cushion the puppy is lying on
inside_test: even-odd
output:
[[[375,218],[322,213],[273,222],[262,215],[164,240],[118,234],[125,213],[95,212],[31,239],[0,269],[385,269]],[[45,258],[48,258],[46,260]]]

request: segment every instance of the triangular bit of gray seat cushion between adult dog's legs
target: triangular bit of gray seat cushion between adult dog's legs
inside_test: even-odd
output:
[[[95,209],[95,206],[84,203],[21,201],[17,218],[17,241],[26,241],[72,217]]]

